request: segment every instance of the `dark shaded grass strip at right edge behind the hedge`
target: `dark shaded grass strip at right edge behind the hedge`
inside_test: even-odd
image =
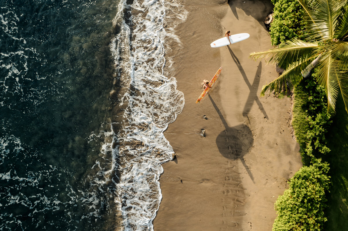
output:
[[[330,164],[331,187],[327,195],[327,222],[324,230],[346,231],[348,227],[348,115],[341,96],[336,103],[336,115],[326,134],[331,149],[323,160]]]

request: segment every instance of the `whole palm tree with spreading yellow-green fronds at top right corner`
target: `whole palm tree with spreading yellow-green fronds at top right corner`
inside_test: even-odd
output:
[[[339,92],[348,112],[348,11],[347,0],[298,0],[304,8],[306,41],[296,38],[265,52],[253,52],[253,59],[286,67],[271,83],[262,87],[266,91],[280,92],[290,83],[297,85],[315,66],[319,68],[316,82],[325,88],[327,110],[335,111]]]

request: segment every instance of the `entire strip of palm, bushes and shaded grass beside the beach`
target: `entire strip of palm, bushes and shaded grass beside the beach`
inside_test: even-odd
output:
[[[289,189],[277,199],[278,216],[272,230],[347,230],[347,0],[298,0],[303,15],[293,0],[271,1],[275,5],[272,44],[280,45],[266,52],[254,52],[251,57],[265,58],[286,68],[277,79],[263,86],[261,95],[296,86],[292,125],[304,165],[290,180]],[[302,34],[304,21],[308,24]],[[313,77],[303,81],[314,67]],[[331,192],[326,199],[329,184]]]

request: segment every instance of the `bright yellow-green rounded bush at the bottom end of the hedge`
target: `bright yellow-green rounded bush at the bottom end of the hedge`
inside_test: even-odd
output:
[[[327,220],[324,215],[325,191],[329,189],[329,165],[318,159],[303,166],[289,183],[289,189],[279,196],[275,209],[277,218],[272,231],[320,231]]]

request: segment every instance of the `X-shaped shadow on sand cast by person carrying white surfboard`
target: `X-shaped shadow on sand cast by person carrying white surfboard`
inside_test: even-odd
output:
[[[235,55],[235,53],[233,53],[233,51],[231,50],[231,48],[229,46],[227,46],[227,47],[228,47],[228,50],[230,51],[232,59],[235,61],[236,65],[240,71],[240,74],[242,74],[242,77],[243,77],[243,79],[244,79],[244,81],[245,81],[245,83],[248,86],[249,91],[250,91],[249,95],[248,95],[248,99],[247,99],[245,106],[244,106],[244,109],[243,109],[243,116],[248,118],[248,113],[250,112],[251,106],[253,105],[253,102],[255,101],[258,104],[259,109],[263,113],[264,118],[268,119],[268,115],[267,115],[266,111],[264,110],[262,103],[257,95],[258,87],[260,84],[261,69],[262,69],[261,61],[259,62],[258,69],[256,70],[254,82],[253,82],[253,84],[250,84],[248,78],[246,77],[246,74],[245,74],[245,71],[244,71],[242,65],[240,65],[240,62],[239,62],[237,56]],[[248,118],[248,120],[249,120],[249,118]],[[250,123],[250,121],[249,121],[249,123]]]

